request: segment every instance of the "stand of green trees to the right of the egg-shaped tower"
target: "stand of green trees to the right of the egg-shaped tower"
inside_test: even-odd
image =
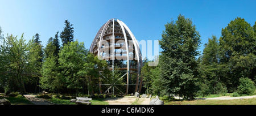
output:
[[[159,65],[142,68],[143,87],[148,94],[179,95],[184,98],[233,93],[255,94],[256,22],[251,27],[243,18],[231,20],[204,45],[191,19],[179,15],[165,25],[159,40],[163,51]]]

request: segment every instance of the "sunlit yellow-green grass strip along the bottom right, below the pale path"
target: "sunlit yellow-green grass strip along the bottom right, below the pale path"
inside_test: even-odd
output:
[[[164,101],[164,105],[256,105],[256,98],[244,98],[242,100],[180,100]]]

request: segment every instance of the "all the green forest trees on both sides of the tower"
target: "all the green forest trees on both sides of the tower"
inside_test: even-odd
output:
[[[23,35],[1,35],[4,29],[0,28],[0,92],[99,93],[98,72],[110,74],[108,64],[74,39],[73,24],[64,23],[63,31],[50,37],[46,46],[39,33],[26,41]],[[221,29],[220,38],[208,38],[203,53],[198,51],[200,33],[191,19],[179,15],[164,26],[159,38],[163,51],[154,59],[159,65],[148,66],[153,61],[143,61],[142,92],[186,99],[255,94],[256,22],[251,26],[243,18],[231,20]]]

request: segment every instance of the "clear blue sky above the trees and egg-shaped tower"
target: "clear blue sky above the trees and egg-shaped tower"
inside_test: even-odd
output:
[[[64,0],[1,0],[0,27],[3,34],[30,40],[39,33],[42,44],[63,31],[64,20],[75,28],[75,40],[89,49],[100,27],[109,19],[122,20],[137,40],[159,40],[164,24],[177,20],[179,14],[192,19],[201,35],[201,47],[208,38],[221,36],[221,29],[237,17],[254,25],[256,1],[64,1]],[[60,40],[61,41],[61,40]]]

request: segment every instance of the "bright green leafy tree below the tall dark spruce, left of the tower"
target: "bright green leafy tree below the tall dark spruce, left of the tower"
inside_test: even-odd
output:
[[[59,53],[59,63],[61,74],[65,77],[67,88],[78,90],[82,87],[84,76],[88,73],[86,70],[86,56],[88,50],[84,47],[84,42],[69,42],[61,48]]]

